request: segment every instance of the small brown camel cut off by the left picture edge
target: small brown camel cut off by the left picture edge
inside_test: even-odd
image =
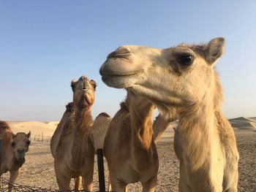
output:
[[[25,153],[29,150],[30,135],[23,132],[13,134],[10,126],[5,121],[0,121],[0,176],[10,172],[9,191],[12,191],[12,185],[18,177],[21,166],[25,162]]]

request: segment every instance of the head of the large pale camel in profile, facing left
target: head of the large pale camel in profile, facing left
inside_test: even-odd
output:
[[[214,63],[224,45],[222,37],[204,45],[166,49],[125,45],[108,55],[99,73],[106,85],[127,88],[150,99],[160,110],[184,107],[214,92]]]

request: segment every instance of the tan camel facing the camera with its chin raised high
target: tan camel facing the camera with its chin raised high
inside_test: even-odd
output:
[[[78,81],[72,80],[71,86],[73,103],[67,105],[50,141],[50,150],[61,191],[69,190],[71,178],[77,178],[75,188],[79,189],[80,176],[83,178],[83,189],[92,191],[94,147],[89,139],[89,131],[96,82],[82,76]]]

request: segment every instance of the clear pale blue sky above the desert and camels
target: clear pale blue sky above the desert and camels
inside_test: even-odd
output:
[[[125,91],[101,80],[108,53],[213,37],[227,42],[217,64],[223,112],[256,116],[256,1],[0,0],[0,119],[59,120],[82,74],[98,84],[94,118],[114,115]]]

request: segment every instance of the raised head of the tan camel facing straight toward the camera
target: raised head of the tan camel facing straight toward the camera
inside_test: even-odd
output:
[[[79,109],[84,109],[94,104],[94,91],[96,86],[94,80],[89,80],[85,76],[80,77],[78,81],[72,80],[71,87],[74,105]]]

